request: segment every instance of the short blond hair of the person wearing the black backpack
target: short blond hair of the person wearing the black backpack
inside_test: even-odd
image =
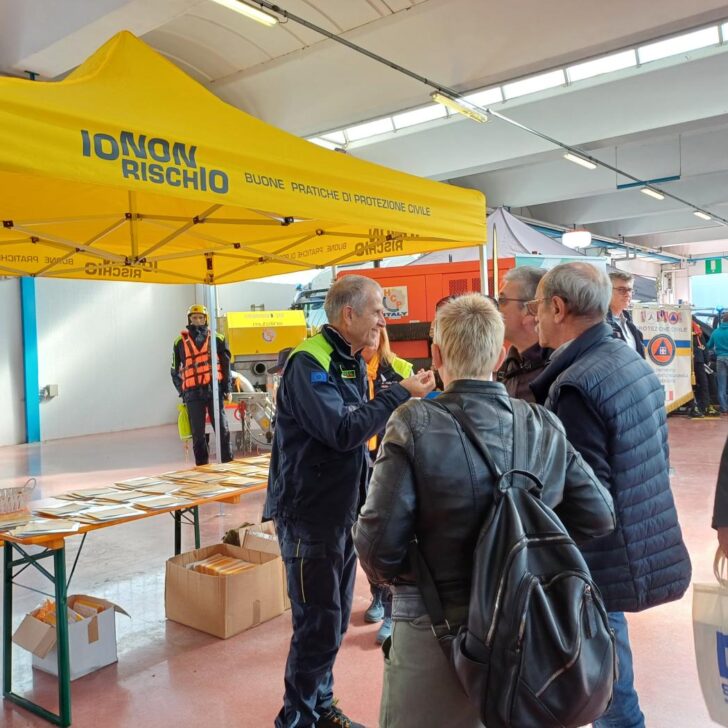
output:
[[[476,379],[495,369],[504,331],[503,317],[493,302],[470,293],[438,310],[433,340],[452,379]]]

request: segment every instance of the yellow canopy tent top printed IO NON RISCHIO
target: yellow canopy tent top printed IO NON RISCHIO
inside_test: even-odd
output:
[[[231,283],[482,244],[479,192],[322,149],[128,32],[0,78],[0,275]]]

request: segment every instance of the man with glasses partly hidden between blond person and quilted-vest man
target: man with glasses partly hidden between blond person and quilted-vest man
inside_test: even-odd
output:
[[[546,270],[524,265],[511,268],[498,295],[503,321],[506,325],[508,350],[503,365],[498,370],[498,381],[503,382],[511,397],[533,402],[533,392],[528,386],[546,366],[550,352],[538,343],[536,320],[528,313],[526,303],[536,296],[536,287]]]

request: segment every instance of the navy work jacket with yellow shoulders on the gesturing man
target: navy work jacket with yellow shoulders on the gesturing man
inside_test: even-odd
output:
[[[353,525],[368,477],[366,443],[409,399],[392,384],[368,401],[361,356],[352,356],[332,326],[317,336],[328,367],[309,346],[294,350],[283,372],[263,514],[303,522],[314,533]]]

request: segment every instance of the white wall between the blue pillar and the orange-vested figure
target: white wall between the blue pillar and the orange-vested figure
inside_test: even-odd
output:
[[[194,286],[36,281],[41,438],[173,422],[172,343]]]

